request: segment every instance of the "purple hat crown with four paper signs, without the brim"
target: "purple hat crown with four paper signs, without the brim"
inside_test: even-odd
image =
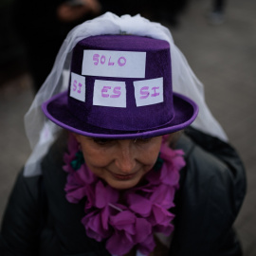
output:
[[[101,35],[73,50],[68,109],[82,122],[140,131],[174,118],[170,46],[134,35]]]

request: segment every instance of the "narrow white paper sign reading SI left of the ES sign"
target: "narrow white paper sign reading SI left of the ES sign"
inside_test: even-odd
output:
[[[85,77],[72,72],[70,97],[85,102]]]

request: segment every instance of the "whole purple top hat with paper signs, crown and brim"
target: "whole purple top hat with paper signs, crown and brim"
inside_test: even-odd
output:
[[[170,45],[134,35],[92,36],[73,49],[68,91],[43,104],[48,119],[87,137],[136,138],[190,125],[197,105],[173,92]]]

